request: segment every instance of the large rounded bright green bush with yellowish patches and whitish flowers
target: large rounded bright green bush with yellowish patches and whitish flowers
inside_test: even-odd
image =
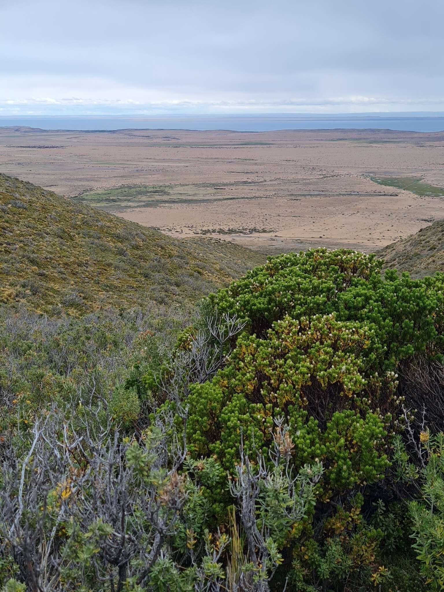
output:
[[[326,462],[324,497],[379,480],[400,363],[443,352],[444,276],[381,276],[374,256],[324,249],[253,269],[207,301],[244,319],[227,364],[189,395],[189,449],[226,468],[286,416],[297,466]]]

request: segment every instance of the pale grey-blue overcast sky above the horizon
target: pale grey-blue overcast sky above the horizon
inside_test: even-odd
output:
[[[0,114],[444,111],[443,0],[0,0]]]

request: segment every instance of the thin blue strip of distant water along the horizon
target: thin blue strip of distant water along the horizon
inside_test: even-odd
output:
[[[44,130],[333,130],[390,129],[443,131],[444,113],[418,114],[269,114],[269,115],[124,115],[78,117],[0,116],[0,126],[40,127]]]

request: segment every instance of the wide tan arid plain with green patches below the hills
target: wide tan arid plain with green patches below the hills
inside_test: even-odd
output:
[[[173,236],[266,252],[372,251],[444,218],[441,132],[4,127],[0,171]]]

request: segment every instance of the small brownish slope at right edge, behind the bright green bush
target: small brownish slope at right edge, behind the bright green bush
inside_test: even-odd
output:
[[[377,255],[384,259],[384,268],[408,271],[415,278],[444,272],[444,220],[388,244]]]

